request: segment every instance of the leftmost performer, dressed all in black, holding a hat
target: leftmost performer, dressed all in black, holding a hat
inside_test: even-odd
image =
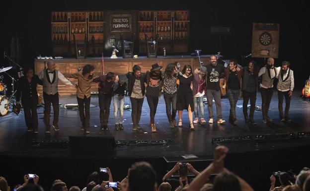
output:
[[[25,70],[25,76],[18,80],[17,93],[16,93],[16,105],[20,106],[20,96],[21,103],[24,107],[25,122],[28,128],[28,132],[34,134],[38,133],[38,92],[37,84],[42,85],[42,80],[39,79],[37,75],[33,74],[33,69],[28,67]],[[17,113],[18,108],[15,110]]]

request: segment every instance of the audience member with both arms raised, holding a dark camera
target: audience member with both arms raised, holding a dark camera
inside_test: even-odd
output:
[[[192,181],[192,179],[188,179],[188,171],[192,172],[196,176],[200,174],[191,164],[177,162],[174,167],[162,177],[162,181],[170,183],[171,190],[174,191],[180,185],[180,182],[177,179],[171,179],[171,176],[178,172],[180,178],[182,179],[182,183],[185,186],[186,181],[187,184]]]

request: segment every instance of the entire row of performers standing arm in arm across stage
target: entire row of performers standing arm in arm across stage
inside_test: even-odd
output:
[[[55,69],[55,63],[49,61],[47,69],[42,70],[39,75],[34,75],[33,69],[29,68],[25,72],[25,77],[19,80],[16,104],[21,102],[24,108],[24,115],[28,131],[38,133],[37,103],[38,96],[36,86],[43,85],[44,100],[44,123],[46,133],[50,133],[51,104],[54,110],[52,127],[59,131],[59,94],[58,80],[65,84],[77,88],[77,100],[81,130],[89,133],[89,108],[90,108],[90,87],[91,83],[99,83],[98,98],[100,108],[100,130],[108,130],[108,119],[110,114],[110,104],[113,98],[115,130],[123,129],[124,96],[128,94],[132,106],[133,130],[140,127],[139,122],[142,113],[144,97],[150,107],[150,127],[152,132],[156,132],[155,113],[158,98],[163,94],[166,105],[166,114],[169,127],[182,127],[182,111],[188,111],[189,128],[194,130],[193,124],[205,124],[203,97],[207,97],[209,123],[223,124],[225,120],[222,116],[221,87],[220,78],[226,79],[227,96],[230,101],[229,122],[236,125],[238,123],[235,107],[240,91],[243,93],[243,114],[246,123],[256,124],[254,121],[254,109],[256,93],[260,87],[262,97],[262,117],[263,123],[271,122],[268,117],[270,101],[273,95],[273,82],[278,78],[277,90],[279,98],[279,116],[281,121],[290,121],[289,108],[292,92],[294,89],[294,73],[290,69],[290,63],[285,61],[281,67],[274,67],[274,59],[269,58],[267,64],[258,68],[255,61],[250,61],[246,67],[241,67],[235,60],[231,60],[229,67],[225,68],[218,64],[215,55],[210,56],[211,64],[203,65],[193,71],[190,65],[185,65],[180,71],[177,64],[167,64],[164,71],[162,66],[153,64],[146,73],[141,72],[139,65],[133,66],[133,71],[124,75],[115,75],[108,72],[106,75],[96,76],[94,66],[84,65],[81,72],[71,74],[70,78],[78,79],[78,84],[69,81],[60,71]],[[259,83],[258,78],[262,77]],[[283,97],[285,97],[286,107],[283,116]],[[214,121],[213,99],[217,110],[217,121]],[[250,100],[250,112],[247,113],[247,104]],[[199,110],[199,112],[198,112]],[[192,112],[194,111],[194,119]],[[178,122],[175,117],[178,112]]]

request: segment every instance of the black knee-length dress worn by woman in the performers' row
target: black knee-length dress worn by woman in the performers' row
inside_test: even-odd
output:
[[[190,88],[191,82],[193,81],[193,75],[187,78],[183,77],[183,75],[178,75],[178,79],[180,84],[176,96],[176,110],[188,110],[188,105],[190,105],[191,110],[193,111],[193,90]]]

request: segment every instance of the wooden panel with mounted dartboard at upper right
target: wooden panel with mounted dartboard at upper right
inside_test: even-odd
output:
[[[252,58],[278,58],[279,23],[253,23]]]

